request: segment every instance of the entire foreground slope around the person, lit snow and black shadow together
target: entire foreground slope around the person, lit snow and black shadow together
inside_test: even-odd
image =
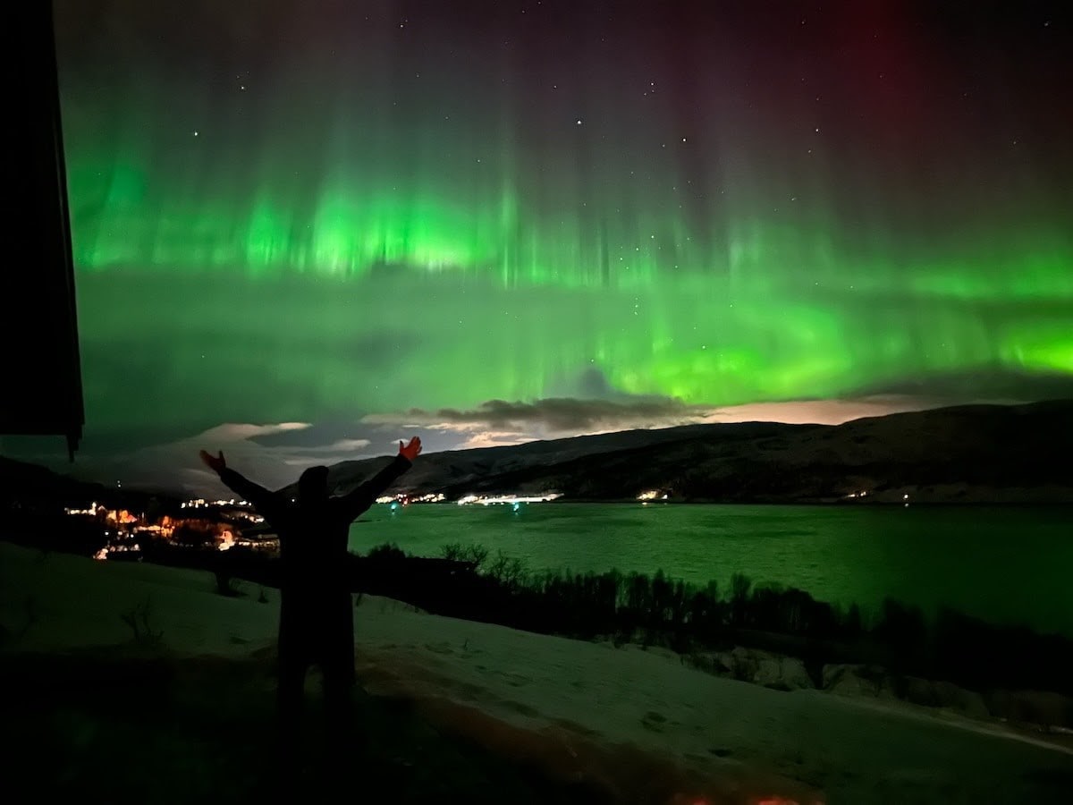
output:
[[[277,801],[278,599],[220,596],[205,576],[0,543],[13,790]],[[359,714],[376,740],[355,750],[353,779],[393,803],[1043,803],[1073,781],[1063,735],[850,688],[775,690],[655,647],[357,603]],[[141,633],[122,617],[137,613]]]

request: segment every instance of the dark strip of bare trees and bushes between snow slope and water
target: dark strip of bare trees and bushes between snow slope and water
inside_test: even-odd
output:
[[[206,584],[227,597],[264,600],[265,588],[279,586],[278,559],[247,548],[148,544],[144,555],[205,570]],[[383,596],[437,615],[672,652],[684,664],[779,690],[900,700],[1033,731],[1073,731],[1073,640],[954,610],[928,617],[886,599],[878,612],[864,612],[740,573],[725,587],[689,584],[661,570],[538,573],[502,552],[460,542],[439,557],[408,555],[394,544],[351,554],[350,575],[358,603],[363,595]],[[16,633],[17,625],[0,625],[0,644]]]

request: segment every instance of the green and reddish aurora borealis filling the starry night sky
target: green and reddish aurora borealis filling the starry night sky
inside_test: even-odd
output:
[[[87,447],[1068,387],[1069,24],[942,5],[59,0]]]

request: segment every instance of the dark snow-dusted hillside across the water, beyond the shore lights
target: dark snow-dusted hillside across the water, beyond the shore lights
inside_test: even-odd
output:
[[[573,500],[1073,502],[1073,401],[961,406],[841,425],[690,425],[423,456],[398,491]],[[344,488],[383,459],[347,462]],[[864,498],[851,494],[867,492]]]

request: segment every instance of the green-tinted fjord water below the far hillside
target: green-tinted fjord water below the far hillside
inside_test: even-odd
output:
[[[350,532],[440,556],[479,543],[530,570],[653,573],[725,590],[733,573],[874,612],[887,596],[1073,636],[1073,509],[526,503],[374,506]]]

